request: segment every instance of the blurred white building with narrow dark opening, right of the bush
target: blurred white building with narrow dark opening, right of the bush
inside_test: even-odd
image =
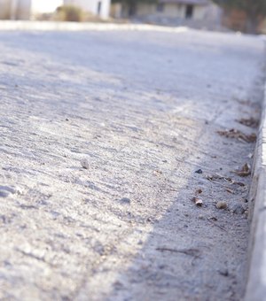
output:
[[[64,4],[79,6],[86,12],[107,19],[110,13],[111,0],[64,0]]]

